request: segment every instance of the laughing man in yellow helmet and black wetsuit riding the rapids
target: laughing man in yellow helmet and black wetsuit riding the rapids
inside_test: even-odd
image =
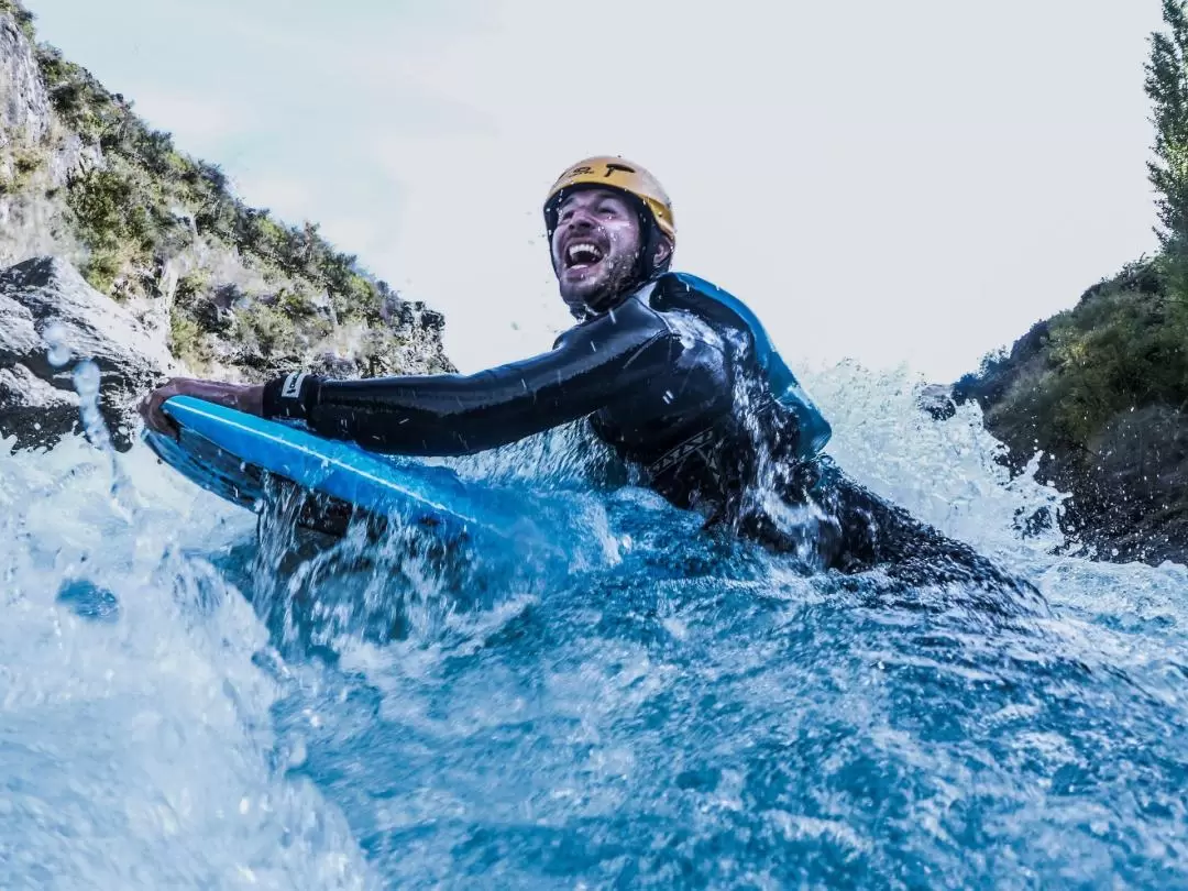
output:
[[[586,418],[670,503],[809,565],[886,564],[909,584],[1026,587],[820,455],[829,425],[754,315],[669,271],[672,207],[646,170],[583,160],[549,190],[544,217],[561,297],[577,320],[550,352],[470,375],[176,379],[143,404],[147,424],[168,431],[162,404],[188,394],[377,451],[457,455]]]

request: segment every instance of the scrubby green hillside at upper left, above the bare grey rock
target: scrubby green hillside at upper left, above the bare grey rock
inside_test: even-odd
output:
[[[36,44],[33,17],[14,0],[0,0],[0,18],[30,43],[49,114],[40,138],[7,147],[0,197],[39,202],[61,253],[163,329],[191,369],[251,379],[296,364],[342,374],[451,368],[438,314],[403,301],[316,225],[244,203],[216,164],[189,157],[132,101]],[[64,171],[48,171],[63,158]]]

